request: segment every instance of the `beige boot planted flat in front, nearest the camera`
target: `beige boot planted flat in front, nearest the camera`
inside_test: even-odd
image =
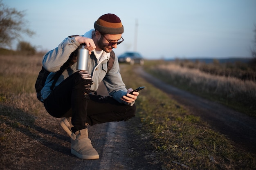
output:
[[[88,129],[78,130],[71,135],[71,153],[81,159],[99,159],[98,152],[88,138]]]

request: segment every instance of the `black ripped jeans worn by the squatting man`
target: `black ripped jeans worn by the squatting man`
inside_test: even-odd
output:
[[[90,94],[85,98],[84,92],[81,75],[76,72],[54,88],[44,100],[45,109],[53,117],[72,116],[73,132],[86,128],[85,123],[94,125],[135,116],[135,104],[121,104],[110,96]]]

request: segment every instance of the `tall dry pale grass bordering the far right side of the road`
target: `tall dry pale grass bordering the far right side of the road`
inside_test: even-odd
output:
[[[175,62],[155,63],[146,62],[146,70],[164,82],[256,117],[255,82],[211,75],[199,69],[181,67]]]

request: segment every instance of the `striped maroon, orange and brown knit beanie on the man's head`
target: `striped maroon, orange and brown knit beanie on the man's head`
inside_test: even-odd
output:
[[[124,26],[120,18],[112,13],[102,15],[94,22],[94,29],[103,34],[122,34]]]

